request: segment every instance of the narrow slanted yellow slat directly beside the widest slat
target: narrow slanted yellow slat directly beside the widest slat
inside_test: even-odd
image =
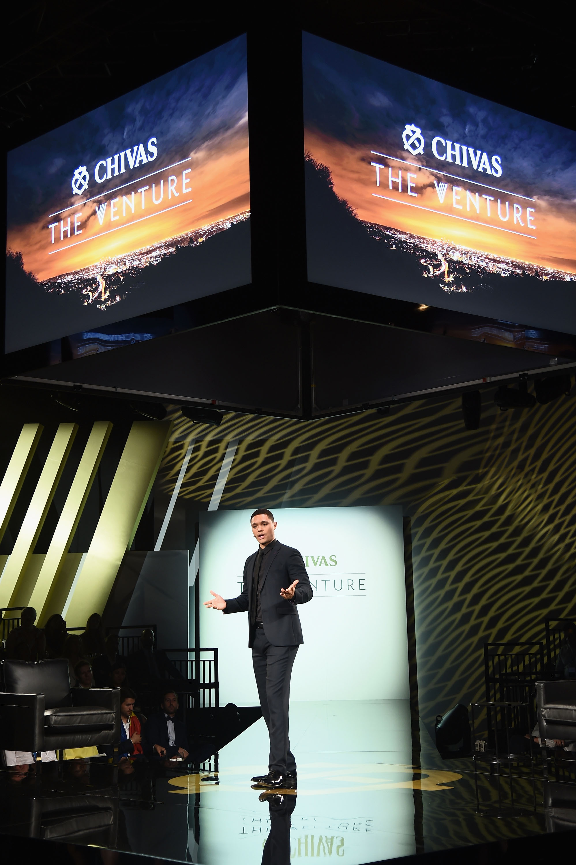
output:
[[[70,580],[67,569],[61,573],[62,565],[80,521],[86,498],[92,488],[111,430],[112,424],[109,421],[97,420],[93,424],[60,519],[54,529],[42,570],[35,580],[28,603],[38,612],[40,626],[53,612],[62,612],[67,601],[74,574]]]

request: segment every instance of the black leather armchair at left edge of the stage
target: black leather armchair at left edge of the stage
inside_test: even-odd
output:
[[[0,747],[59,751],[120,740],[120,689],[70,688],[68,662],[3,661]]]

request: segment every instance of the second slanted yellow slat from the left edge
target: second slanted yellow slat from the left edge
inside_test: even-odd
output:
[[[76,424],[60,424],[42,468],[34,494],[16,538],[14,549],[0,577],[0,606],[26,606],[34,588],[34,574],[27,567],[38,535],[54,498],[54,492],[66,465],[74,437]]]

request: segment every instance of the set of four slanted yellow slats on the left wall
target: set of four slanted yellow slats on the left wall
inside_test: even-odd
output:
[[[68,554],[68,548],[112,429],[108,421],[96,421],[48,552],[34,555],[35,543],[78,431],[75,424],[64,423],[58,427],[12,553],[0,557],[0,606],[35,606],[39,625],[54,612],[61,613],[66,605],[68,618],[80,623],[92,612],[103,612],[120,562],[138,529],[171,428],[171,421],[135,421],[132,424],[93,541],[83,557],[82,554]],[[8,525],[41,435],[42,426],[38,424],[25,424],[22,428],[0,484],[0,536]],[[74,580],[74,593],[68,598]],[[10,616],[10,612],[6,616]]]

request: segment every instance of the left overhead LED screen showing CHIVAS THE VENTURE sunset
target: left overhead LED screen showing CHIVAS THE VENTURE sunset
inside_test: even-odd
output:
[[[251,279],[246,37],[11,151],[5,350]]]

